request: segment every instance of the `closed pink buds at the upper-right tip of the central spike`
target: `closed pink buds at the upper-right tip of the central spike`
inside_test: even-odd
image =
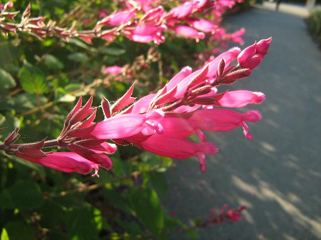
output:
[[[267,53],[271,40],[272,38],[261,40],[245,48],[237,57],[240,66],[248,69],[256,68]]]

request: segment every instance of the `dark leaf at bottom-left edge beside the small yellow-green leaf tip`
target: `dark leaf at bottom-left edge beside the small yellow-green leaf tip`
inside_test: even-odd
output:
[[[8,222],[5,225],[10,240],[34,240],[35,230],[22,222]],[[1,235],[2,240],[2,235]]]

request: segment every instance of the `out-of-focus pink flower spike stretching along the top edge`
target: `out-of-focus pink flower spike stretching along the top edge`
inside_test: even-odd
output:
[[[14,23],[14,17],[19,11],[10,12],[13,7],[12,1],[0,7],[0,31],[5,35],[15,34],[17,30],[30,33],[39,39],[48,36],[59,36],[63,40],[70,37],[80,38],[91,44],[93,38],[100,38],[108,42],[118,35],[137,42],[152,42],[160,44],[165,40],[163,32],[169,30],[178,36],[191,39],[204,39],[206,33],[211,33],[211,38],[218,40],[222,45],[223,41],[243,42],[240,38],[244,29],[234,34],[228,34],[220,26],[221,15],[233,7],[236,2],[243,0],[189,0],[173,7],[168,12],[164,10],[161,1],[158,6],[155,1],[132,0],[125,1],[123,9],[115,11],[95,24],[91,30],[77,31],[76,26],[61,28],[56,22],[49,20],[45,23],[46,17],[30,17],[31,5],[27,6],[22,13],[21,21]],[[198,13],[208,19],[197,17]],[[223,40],[223,41],[222,41]]]

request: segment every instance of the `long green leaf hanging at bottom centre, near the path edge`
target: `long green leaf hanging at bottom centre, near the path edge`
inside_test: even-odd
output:
[[[129,201],[141,223],[153,234],[160,235],[163,228],[163,210],[157,193],[150,188],[134,188]]]

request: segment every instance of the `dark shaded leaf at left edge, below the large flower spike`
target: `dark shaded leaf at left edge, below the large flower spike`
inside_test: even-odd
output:
[[[20,180],[0,193],[0,207],[2,208],[38,208],[43,202],[44,197],[39,186],[28,180]]]

